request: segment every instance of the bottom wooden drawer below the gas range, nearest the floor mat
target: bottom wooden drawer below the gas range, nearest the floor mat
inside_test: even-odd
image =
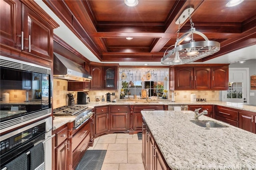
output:
[[[80,145],[74,150],[73,152],[73,158],[72,158],[72,163],[73,167],[76,167],[78,163],[80,162],[81,158],[83,157],[84,152],[86,151],[86,148],[89,145],[90,141],[90,135],[88,134],[84,140],[80,143]]]

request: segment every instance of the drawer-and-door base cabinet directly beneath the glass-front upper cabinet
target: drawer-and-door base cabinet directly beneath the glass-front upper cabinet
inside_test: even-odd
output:
[[[110,131],[127,131],[129,106],[110,106]]]

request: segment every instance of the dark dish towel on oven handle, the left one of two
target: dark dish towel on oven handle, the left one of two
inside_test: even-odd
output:
[[[28,155],[26,153],[21,154],[11,162],[5,165],[7,170],[27,170],[28,169]]]

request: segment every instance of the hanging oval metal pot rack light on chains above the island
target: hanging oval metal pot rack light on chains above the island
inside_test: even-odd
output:
[[[193,9],[193,10],[191,10]],[[176,21],[176,24],[179,24],[178,27],[178,35],[180,32],[180,23],[181,21],[186,21],[186,19],[189,17],[191,28],[188,32],[184,33],[180,38],[178,38],[175,45],[172,45],[170,47],[174,48],[166,54],[166,51],[170,48],[168,47],[166,51],[164,52],[164,57],[161,59],[162,64],[167,65],[178,65],[178,64],[186,64],[191,63],[194,61],[197,61],[199,59],[202,59],[206,56],[212,55],[220,50],[220,43],[216,41],[209,41],[208,38],[201,32],[196,31],[194,28],[194,23],[192,22],[191,16],[190,16],[190,10],[194,11],[194,8],[187,8],[184,11],[188,12],[188,15],[184,17],[184,12],[182,15],[178,18],[178,22]],[[185,18],[185,19],[184,19]],[[200,35],[204,38],[205,41],[194,41],[194,34]],[[190,43],[182,44],[180,45],[187,37],[190,37],[191,35],[191,41]],[[179,61],[179,62],[177,62]]]

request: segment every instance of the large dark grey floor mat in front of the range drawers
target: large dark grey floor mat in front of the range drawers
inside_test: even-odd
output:
[[[107,150],[87,150],[76,170],[100,170]]]

